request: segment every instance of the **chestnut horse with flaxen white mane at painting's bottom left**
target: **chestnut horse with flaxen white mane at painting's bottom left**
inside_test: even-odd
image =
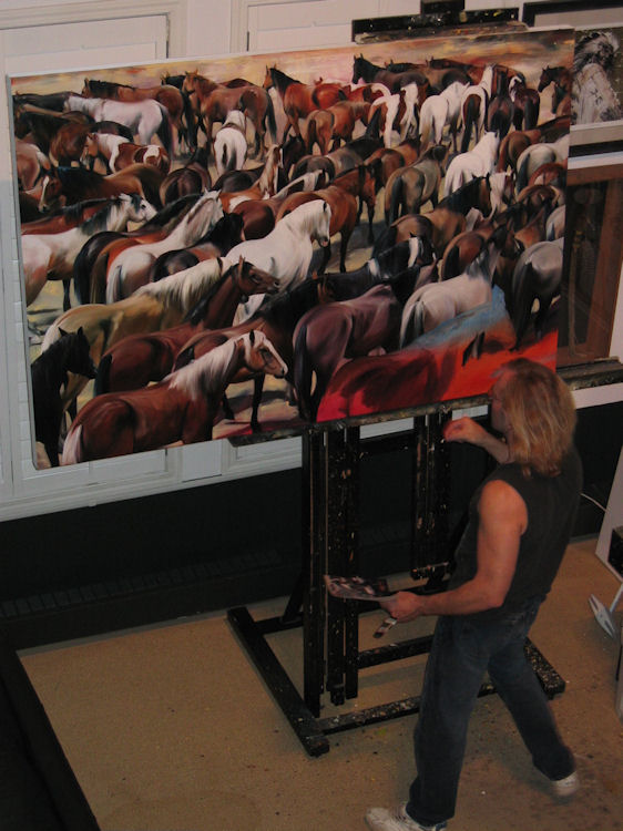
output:
[[[233,338],[160,383],[89,401],[71,425],[61,463],[208,441],[229,383],[265,373],[283,378],[286,371],[262,332]]]

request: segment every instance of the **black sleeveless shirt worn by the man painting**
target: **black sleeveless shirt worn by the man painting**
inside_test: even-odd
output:
[[[469,522],[457,547],[450,588],[457,588],[476,575],[478,504],[484,485],[494,480],[507,482],[519,493],[525,503],[528,526],[521,536],[515,572],[502,606],[470,615],[482,619],[494,619],[514,612],[525,601],[544,598],[550,591],[573,531],[582,486],[582,463],[573,449],[556,476],[537,473],[525,476],[521,465],[515,463],[497,468],[471,499]]]

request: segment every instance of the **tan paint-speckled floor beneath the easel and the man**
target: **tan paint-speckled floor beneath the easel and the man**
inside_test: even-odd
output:
[[[503,705],[488,696],[471,720],[450,829],[623,829],[619,645],[588,604],[594,593],[610,605],[619,582],[594,545],[570,546],[531,635],[566,681],[552,707],[576,755],[581,793],[569,804],[550,796]],[[251,611],[272,616],[284,602]],[[364,646],[379,619],[378,612],[362,616]],[[418,620],[390,637],[431,624]],[[298,681],[300,632],[272,638]],[[103,831],[362,831],[366,808],[404,799],[413,772],[417,716],[338,733],[328,753],[306,756],[224,612],[21,657]],[[422,664],[366,670],[359,697],[341,709],[417,695]]]

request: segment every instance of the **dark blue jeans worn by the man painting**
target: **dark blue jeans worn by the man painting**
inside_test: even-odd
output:
[[[417,822],[433,825],[455,814],[469,717],[486,670],[534,766],[549,779],[573,772],[573,756],[559,737],[547,696],[523,650],[541,599],[533,598],[520,612],[496,620],[439,618],[415,730],[418,776],[407,812]]]

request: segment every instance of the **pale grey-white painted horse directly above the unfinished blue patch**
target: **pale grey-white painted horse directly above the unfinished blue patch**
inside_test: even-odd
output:
[[[400,346],[411,343],[420,335],[464,311],[490,304],[499,256],[499,249],[491,242],[462,274],[417,288],[405,304]]]

